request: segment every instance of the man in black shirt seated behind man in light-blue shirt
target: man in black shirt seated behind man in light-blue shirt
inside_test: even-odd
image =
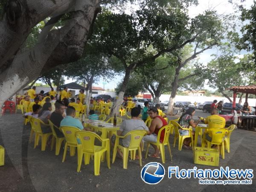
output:
[[[52,112],[50,120],[56,127],[59,127],[61,124],[61,120],[63,119],[62,114],[64,113],[65,105],[59,101],[56,101],[54,105],[55,105],[55,111]],[[59,129],[54,127],[54,130],[58,137],[64,137],[64,135]]]

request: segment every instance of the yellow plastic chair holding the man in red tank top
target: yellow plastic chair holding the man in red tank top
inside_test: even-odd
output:
[[[171,161],[172,161],[172,153],[171,153],[171,147],[170,147],[170,143],[169,143],[169,136],[170,136],[170,131],[173,125],[166,125],[162,128],[160,128],[158,135],[157,135],[157,143],[154,142],[147,142],[147,150],[146,150],[146,154],[145,154],[145,159],[148,157],[148,148],[149,145],[157,145],[157,147],[160,149],[161,151],[161,157],[162,157],[162,162],[165,163],[165,150],[164,150],[164,146],[167,145],[170,156],[171,156]],[[164,132],[164,138],[163,138],[163,143],[160,143],[160,135],[162,133],[162,131]]]

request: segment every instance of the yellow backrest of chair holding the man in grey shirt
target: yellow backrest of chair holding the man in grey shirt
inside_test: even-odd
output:
[[[146,130],[133,130],[125,134],[124,137],[130,137],[130,145],[128,148],[138,148],[141,140],[146,134]]]

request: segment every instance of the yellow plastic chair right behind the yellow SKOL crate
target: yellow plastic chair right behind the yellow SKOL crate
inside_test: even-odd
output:
[[[218,129],[209,129],[208,134],[212,133],[212,141],[208,141],[206,138],[206,133],[204,133],[202,146],[205,146],[205,143],[207,144],[207,149],[209,150],[212,145],[217,145],[218,150],[220,151],[220,154],[222,156],[222,159],[225,159],[225,145],[224,145],[224,137],[225,134],[228,133],[228,130],[225,128],[218,128]],[[221,148],[220,148],[221,145]]]

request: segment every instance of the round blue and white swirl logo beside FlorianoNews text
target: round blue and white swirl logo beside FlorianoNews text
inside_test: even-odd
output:
[[[148,184],[159,183],[165,175],[164,167],[157,162],[146,164],[140,173],[141,179]]]

